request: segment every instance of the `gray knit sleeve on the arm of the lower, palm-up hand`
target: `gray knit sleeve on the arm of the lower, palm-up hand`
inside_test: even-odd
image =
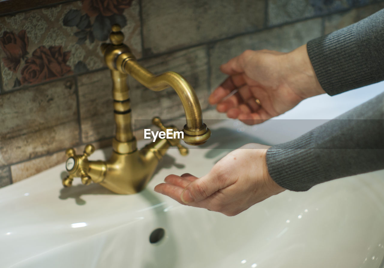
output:
[[[272,179],[306,191],[328,180],[384,169],[384,93],[266,153]]]

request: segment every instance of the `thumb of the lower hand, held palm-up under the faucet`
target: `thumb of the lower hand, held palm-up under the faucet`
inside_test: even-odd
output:
[[[218,176],[207,174],[187,185],[181,193],[180,199],[184,203],[199,202],[226,186],[224,180]]]

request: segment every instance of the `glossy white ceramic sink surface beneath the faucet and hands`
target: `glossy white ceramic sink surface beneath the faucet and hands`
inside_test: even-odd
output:
[[[273,124],[213,126],[209,143],[190,147],[189,156],[170,149],[139,194],[117,195],[97,184],[63,189],[64,163],[0,189],[0,267],[382,267],[383,171],[285,191],[235,217],[153,191],[166,175],[202,176],[231,149],[271,143]],[[292,138],[289,130],[285,137]],[[90,158],[108,154],[98,150]],[[151,243],[158,228],[163,236],[158,231]]]

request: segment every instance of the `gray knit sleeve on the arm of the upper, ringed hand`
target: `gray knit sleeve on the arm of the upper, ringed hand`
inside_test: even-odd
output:
[[[311,40],[308,56],[321,87],[333,96],[384,80],[384,9]]]

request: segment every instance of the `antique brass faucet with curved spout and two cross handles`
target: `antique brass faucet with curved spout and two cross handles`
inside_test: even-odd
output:
[[[137,150],[131,126],[128,74],[152,91],[174,88],[183,104],[187,121],[183,129],[185,143],[204,144],[211,132],[203,123],[200,103],[194,89],[182,75],[166,72],[156,76],[140,66],[128,46],[122,43],[124,35],[117,24],[112,26],[109,40],[110,44],[101,45],[101,51],[106,65],[111,69],[113,80],[116,121],[113,152],[108,161],[89,161],[88,156],[95,149],[93,145],[87,144],[83,155],[76,155],[73,148],[67,149],[66,155],[69,158],[66,161],[66,169],[69,175],[63,179],[63,185],[70,187],[74,177],[81,177],[85,185],[95,182],[118,194],[134,194],[144,189],[169,146],[177,146],[183,156],[188,154],[188,149],[180,144],[179,139],[158,138]],[[175,126],[165,127],[158,117],[152,119],[152,123],[164,132],[167,129],[177,131]]]

